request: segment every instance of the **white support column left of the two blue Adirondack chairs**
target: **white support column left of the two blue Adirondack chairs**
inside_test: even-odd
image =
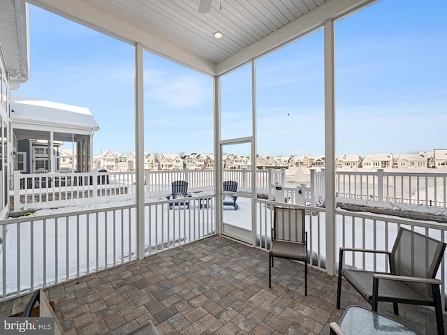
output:
[[[145,257],[145,166],[144,101],[142,45],[135,45],[135,200],[137,220],[137,256]]]

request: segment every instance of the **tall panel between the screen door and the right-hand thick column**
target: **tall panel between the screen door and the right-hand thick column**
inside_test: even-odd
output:
[[[311,169],[324,167],[323,56],[318,30],[256,61],[257,190],[279,202],[310,204]]]

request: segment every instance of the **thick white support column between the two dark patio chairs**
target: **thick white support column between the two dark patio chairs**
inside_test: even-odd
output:
[[[324,24],[326,271],[335,267],[335,47],[334,21]]]

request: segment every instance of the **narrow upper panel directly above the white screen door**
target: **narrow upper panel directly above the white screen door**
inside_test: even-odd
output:
[[[222,140],[253,135],[251,97],[251,64],[221,77]]]

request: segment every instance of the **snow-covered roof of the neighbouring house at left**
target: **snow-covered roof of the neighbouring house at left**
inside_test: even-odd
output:
[[[99,126],[87,107],[66,105],[38,99],[11,96],[11,124],[20,128],[21,124],[52,126],[54,128],[89,129],[98,131]]]

